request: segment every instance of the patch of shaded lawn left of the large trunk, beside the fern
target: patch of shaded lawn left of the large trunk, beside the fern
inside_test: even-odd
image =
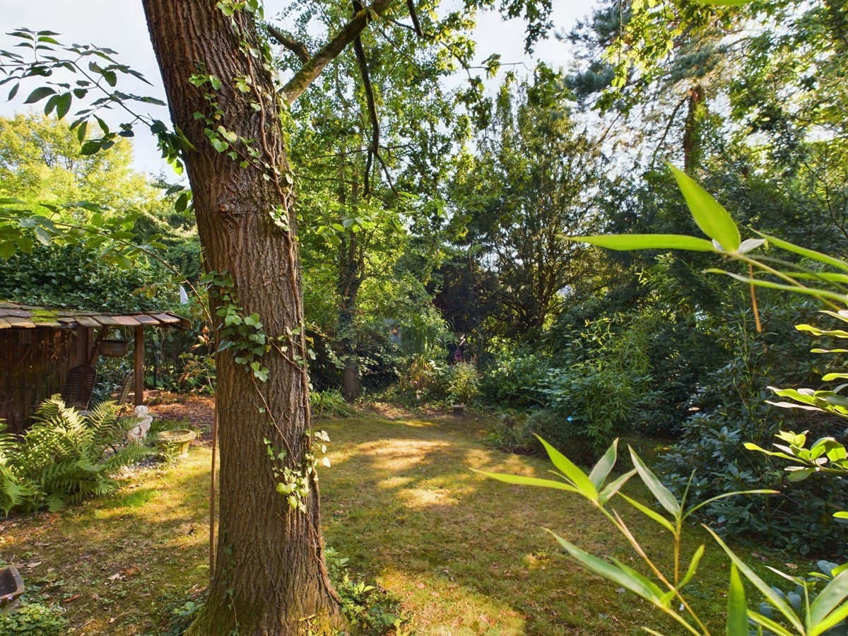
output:
[[[209,458],[195,449],[112,497],[10,519],[3,559],[32,565],[21,567],[29,594],[59,603],[75,633],[165,633],[208,577]]]

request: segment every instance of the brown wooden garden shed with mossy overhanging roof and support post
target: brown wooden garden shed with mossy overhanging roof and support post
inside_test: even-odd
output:
[[[132,334],[134,401],[142,404],[144,328],[191,324],[167,311],[113,313],[0,302],[0,419],[11,430],[22,430],[38,404],[62,393],[71,370],[95,365],[101,354],[126,354],[128,343],[109,340],[118,331]]]

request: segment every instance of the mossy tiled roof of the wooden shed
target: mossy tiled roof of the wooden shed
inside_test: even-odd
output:
[[[35,329],[36,326],[54,329],[73,329],[77,326],[173,326],[177,329],[187,329],[192,326],[192,322],[170,311],[113,313],[52,309],[0,301],[0,329]]]

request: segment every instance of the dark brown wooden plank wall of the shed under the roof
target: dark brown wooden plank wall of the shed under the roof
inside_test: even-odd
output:
[[[20,432],[36,406],[60,393],[68,371],[88,360],[89,330],[0,330],[0,419]]]

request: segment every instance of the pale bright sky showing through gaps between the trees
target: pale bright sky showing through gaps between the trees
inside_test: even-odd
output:
[[[272,19],[289,1],[266,0],[265,15]],[[553,2],[555,31],[570,30],[579,18],[591,12],[594,5],[593,0]],[[141,82],[122,79],[118,85],[120,90],[165,99],[140,0],[30,0],[25,3],[20,0],[0,0],[0,15],[3,15],[3,28],[0,30],[3,34],[20,27],[50,30],[62,34],[57,36],[59,42],[93,43],[114,49],[120,53],[118,60],[121,63],[140,71],[153,84],[146,86]],[[284,22],[277,24],[286,26]],[[553,36],[538,43],[533,58],[527,56],[523,50],[522,21],[504,21],[496,13],[481,14],[478,17],[475,36],[478,42],[477,61],[488,58],[492,53],[500,53],[503,63],[523,62],[527,68],[533,68],[535,59],[544,60],[555,67],[567,65],[570,59],[568,45]],[[8,48],[14,43],[13,38],[0,35],[0,48]],[[11,103],[5,100],[7,91],[0,89],[0,116],[8,117],[31,108],[23,104],[28,94],[26,89],[27,86],[22,86],[18,97]],[[153,107],[150,113],[158,119],[169,121],[165,108]],[[104,119],[109,122],[109,126],[120,122],[117,114]],[[134,138],[134,165],[143,172],[159,174],[165,171],[166,175],[170,174],[165,162],[159,159],[159,150],[153,137],[143,134],[141,130],[137,131]]]

